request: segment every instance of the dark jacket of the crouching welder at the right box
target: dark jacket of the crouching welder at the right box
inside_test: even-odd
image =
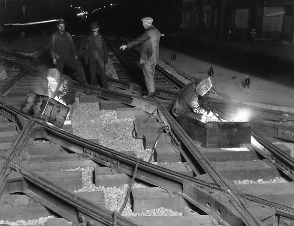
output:
[[[205,110],[200,106],[198,101],[200,96],[195,92],[196,87],[197,84],[191,82],[182,89],[172,109],[174,116],[178,117],[178,114],[185,114],[189,111],[204,115],[209,113],[208,110]]]

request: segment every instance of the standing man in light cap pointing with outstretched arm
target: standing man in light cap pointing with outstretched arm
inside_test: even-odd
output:
[[[159,41],[161,33],[152,25],[153,19],[151,17],[142,18],[141,21],[146,31],[138,38],[121,46],[120,49],[125,50],[126,48],[132,48],[142,44],[140,64],[142,64],[147,87],[147,95],[143,97],[150,98],[155,96],[155,65],[159,59]]]

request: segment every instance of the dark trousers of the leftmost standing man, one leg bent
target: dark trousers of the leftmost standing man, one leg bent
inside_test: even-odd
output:
[[[79,82],[84,81],[86,78],[83,65],[79,60],[75,60],[73,55],[61,55],[57,59],[57,65],[56,69],[63,74],[64,66],[68,67],[69,69],[73,70],[78,78],[76,78],[76,75],[69,75],[73,80],[78,79]]]

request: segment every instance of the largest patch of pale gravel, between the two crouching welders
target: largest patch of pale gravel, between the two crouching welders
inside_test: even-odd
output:
[[[98,139],[99,144],[115,151],[135,151],[148,161],[151,150],[144,150],[143,141],[134,139],[133,119],[118,119],[117,111],[101,110],[98,103],[80,103],[72,116],[73,134],[84,139]]]

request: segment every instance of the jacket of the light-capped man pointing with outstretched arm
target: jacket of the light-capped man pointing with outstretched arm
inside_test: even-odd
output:
[[[159,32],[159,30],[155,26],[151,25],[142,35],[128,42],[126,46],[127,48],[132,48],[134,46],[142,44],[140,64],[157,62],[159,59],[160,37],[161,33]]]

